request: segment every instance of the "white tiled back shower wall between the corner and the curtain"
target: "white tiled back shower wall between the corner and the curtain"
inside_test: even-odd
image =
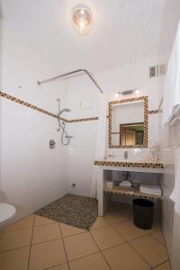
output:
[[[67,85],[71,119],[99,115],[101,94],[87,76],[71,78]],[[90,106],[82,109],[81,103],[90,103]],[[90,194],[97,124],[98,121],[81,121],[68,125],[68,133],[74,137],[68,146],[68,190],[71,193]],[[72,183],[75,183],[76,187],[72,188]]]

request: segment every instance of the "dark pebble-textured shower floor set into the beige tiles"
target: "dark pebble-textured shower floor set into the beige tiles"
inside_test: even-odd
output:
[[[97,200],[68,193],[35,214],[80,229],[90,229],[97,218]]]

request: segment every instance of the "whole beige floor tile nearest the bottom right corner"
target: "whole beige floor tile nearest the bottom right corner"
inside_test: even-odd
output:
[[[130,245],[134,247],[152,267],[157,266],[168,259],[166,247],[150,235],[132,240],[130,241]]]

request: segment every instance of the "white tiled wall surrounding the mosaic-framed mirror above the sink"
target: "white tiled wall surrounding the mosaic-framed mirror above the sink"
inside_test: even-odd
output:
[[[159,80],[162,77],[159,76],[149,78],[148,68],[157,64],[157,58],[150,58],[139,63],[133,63],[128,66],[116,68],[113,70],[107,70],[99,73],[97,77],[106,93],[108,93],[108,100],[126,99],[130,97],[136,97],[139,95],[148,95],[148,110],[156,110],[161,99],[161,94],[158,91]],[[121,94],[116,97],[117,92],[128,89],[139,89],[139,94],[128,94],[122,96]],[[157,114],[148,115],[148,146],[155,145],[157,143]],[[132,155],[134,150],[129,150]],[[113,156],[121,156],[123,149],[110,149],[108,148],[108,154]],[[139,150],[138,155],[147,153],[145,150]]]

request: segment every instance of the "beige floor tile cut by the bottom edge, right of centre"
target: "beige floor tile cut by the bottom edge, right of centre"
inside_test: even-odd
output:
[[[148,270],[150,267],[129,244],[122,244],[103,251],[112,270]]]

